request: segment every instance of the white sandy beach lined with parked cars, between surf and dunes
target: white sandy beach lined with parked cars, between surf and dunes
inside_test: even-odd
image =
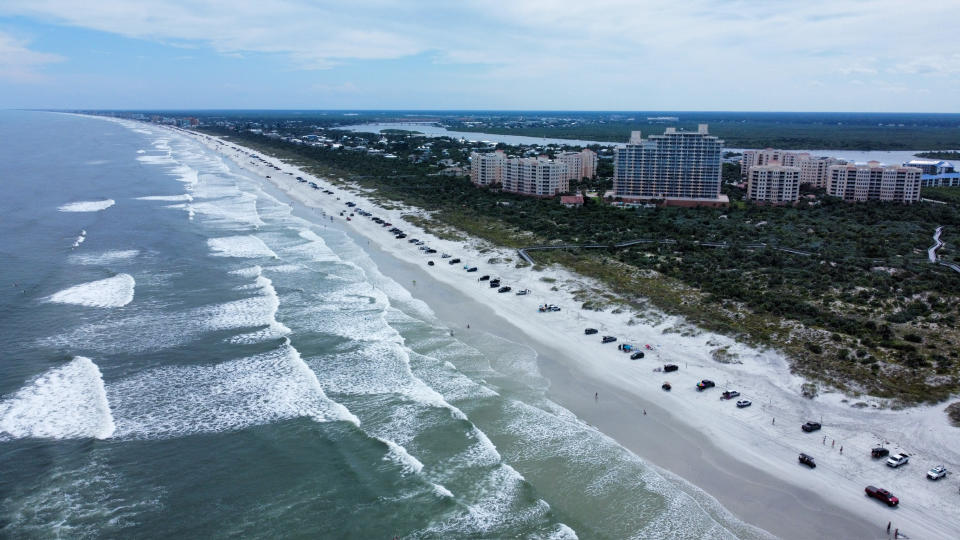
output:
[[[281,170],[267,167],[250,158],[255,152],[232,142],[182,133],[261,178],[269,175],[291,199],[324,213],[324,219],[333,216],[337,226],[368,240],[368,251],[383,272],[398,283],[416,283],[408,287],[411,293],[461,339],[469,343],[495,334],[529,344],[551,383],[551,399],[670,471],[665,472],[668,478],[672,473],[678,477],[675,482],[687,481],[706,491],[746,522],[783,538],[883,538],[888,522],[904,537],[960,537],[956,477],[932,482],[924,476],[941,463],[948,469],[960,466],[960,430],[948,424],[946,404],[894,411],[866,396],[822,390],[814,399],[804,398],[800,386],[805,381],[790,374],[786,360],[774,351],[692,329],[674,317],[638,323],[627,312],[582,311],[573,291],[601,285],[555,268],[516,268],[518,257],[512,251],[478,240],[437,239],[402,219],[404,214],[422,214],[417,209],[377,208],[359,191],[346,192],[263,156]],[[321,190],[298,182],[296,176],[316,182]],[[424,240],[438,253],[424,254],[367,217],[346,221],[339,214],[347,210],[349,215],[347,201],[392,222],[409,238]],[[440,258],[440,253],[462,262],[447,264],[450,259]],[[489,263],[493,258],[503,262]],[[428,266],[428,260],[435,266]],[[479,271],[467,273],[464,264]],[[485,282],[478,283],[481,275],[500,277],[513,291],[498,294]],[[514,294],[521,289],[530,293]],[[561,311],[538,312],[544,303]],[[600,332],[584,335],[586,327]],[[616,343],[601,344],[602,335],[639,346],[645,357],[630,360]],[[713,360],[711,352],[721,348],[735,363]],[[679,371],[658,371],[665,363],[676,364]],[[715,381],[716,388],[697,392],[694,386],[701,379]],[[661,390],[665,381],[672,391]],[[737,399],[753,405],[740,409],[736,399],[721,400],[724,390],[739,391]],[[801,431],[801,424],[811,420],[822,422],[823,429]],[[910,454],[910,463],[892,469],[871,459],[870,449],[879,443],[892,453]],[[799,452],[814,456],[817,468],[798,464]],[[901,500],[899,508],[867,498],[864,487],[869,484],[892,491]]]

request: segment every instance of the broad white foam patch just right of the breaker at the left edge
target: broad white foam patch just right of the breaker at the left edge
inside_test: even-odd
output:
[[[145,371],[107,386],[115,437],[169,438],[244,429],[291,418],[359,420],[327,398],[289,341],[216,365]]]

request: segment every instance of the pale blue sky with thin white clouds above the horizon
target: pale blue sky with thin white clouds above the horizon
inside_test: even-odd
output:
[[[0,108],[960,112],[960,0],[2,0]]]

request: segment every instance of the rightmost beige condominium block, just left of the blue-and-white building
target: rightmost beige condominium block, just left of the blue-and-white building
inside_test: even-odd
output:
[[[876,161],[866,165],[833,165],[829,169],[827,193],[845,201],[920,200],[920,169],[885,167]]]

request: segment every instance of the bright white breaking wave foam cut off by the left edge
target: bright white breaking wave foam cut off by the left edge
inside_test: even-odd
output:
[[[82,356],[0,402],[0,432],[14,437],[105,439],[113,431],[100,368]]]

